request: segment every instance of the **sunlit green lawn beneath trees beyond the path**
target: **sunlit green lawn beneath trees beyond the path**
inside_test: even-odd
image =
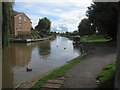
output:
[[[106,42],[110,40],[111,39],[106,39],[104,35],[88,35],[81,37],[82,42]]]

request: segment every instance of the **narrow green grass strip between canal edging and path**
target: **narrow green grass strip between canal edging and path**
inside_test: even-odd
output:
[[[44,76],[43,78],[41,78],[39,81],[37,81],[31,88],[39,88],[41,87],[47,80],[49,79],[53,79],[53,78],[57,78],[57,77],[61,77],[65,75],[65,72],[72,68],[73,66],[75,66],[77,63],[81,62],[82,60],[84,60],[84,57],[80,57],[80,58],[76,58],[70,62],[68,62],[67,64],[65,64],[64,66],[61,66],[58,69],[55,69],[54,71],[52,71],[50,74]]]

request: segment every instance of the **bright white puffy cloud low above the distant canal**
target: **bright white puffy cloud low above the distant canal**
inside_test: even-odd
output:
[[[58,15],[61,18],[59,21],[53,21],[52,27],[64,26],[68,28],[68,31],[72,32],[78,29],[79,22],[85,18],[84,11],[69,11]]]

